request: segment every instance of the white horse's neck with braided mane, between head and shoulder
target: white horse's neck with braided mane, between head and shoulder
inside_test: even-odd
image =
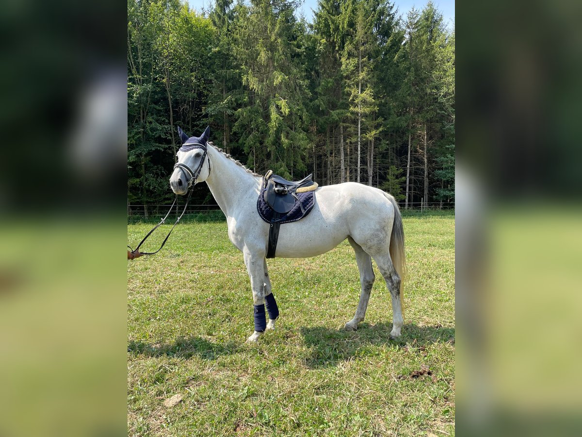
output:
[[[212,146],[208,146],[208,156],[210,175],[206,183],[222,212],[232,217],[237,201],[253,192],[260,181]]]

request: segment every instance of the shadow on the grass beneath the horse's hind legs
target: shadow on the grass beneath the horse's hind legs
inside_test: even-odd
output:
[[[402,336],[390,338],[392,323],[361,323],[356,332],[327,327],[302,327],[301,336],[306,346],[311,348],[307,357],[309,368],[336,366],[342,361],[356,357],[365,348],[390,344],[395,349],[406,346],[420,347],[432,343],[455,341],[455,329],[442,326],[404,325]]]

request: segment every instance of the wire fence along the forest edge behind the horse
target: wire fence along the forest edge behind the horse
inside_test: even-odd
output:
[[[127,223],[159,221],[167,213],[171,204],[164,205],[127,205]],[[450,214],[455,210],[455,202],[409,202],[408,207],[400,202],[402,216],[423,216]],[[176,205],[166,221],[175,221],[182,214],[184,205]],[[225,215],[218,205],[188,205],[180,221],[223,221]]]

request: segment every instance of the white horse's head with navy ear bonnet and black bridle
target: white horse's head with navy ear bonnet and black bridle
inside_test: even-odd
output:
[[[210,174],[207,144],[210,126],[201,136],[187,136],[178,128],[182,147],[178,150],[178,163],[170,177],[170,186],[176,194],[186,194],[190,186],[203,182]]]

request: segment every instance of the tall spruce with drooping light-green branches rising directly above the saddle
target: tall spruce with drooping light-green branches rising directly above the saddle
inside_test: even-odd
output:
[[[236,112],[235,129],[246,137],[242,141],[254,167],[258,153],[263,167],[286,177],[292,166],[305,168],[302,152],[310,146],[307,83],[297,56],[300,26],[293,15],[297,5],[253,0],[250,7],[241,6],[246,17],[239,20],[234,50],[249,90]]]

